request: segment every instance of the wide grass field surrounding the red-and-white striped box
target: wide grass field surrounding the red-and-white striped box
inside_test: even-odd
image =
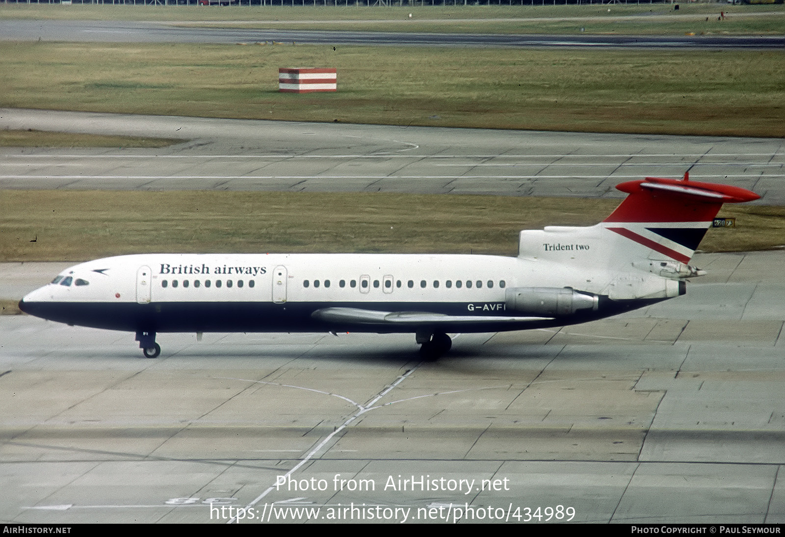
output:
[[[0,106],[782,137],[783,64],[781,50],[0,42]],[[279,67],[307,65],[337,68],[338,92],[278,92]]]

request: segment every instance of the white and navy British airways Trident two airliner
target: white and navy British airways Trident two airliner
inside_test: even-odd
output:
[[[520,232],[518,255],[138,254],[75,265],[27,294],[44,319],[159,332],[407,332],[423,358],[455,332],[564,326],[685,294],[689,265],[723,203],[760,198],[725,184],[647,177],[600,224]]]

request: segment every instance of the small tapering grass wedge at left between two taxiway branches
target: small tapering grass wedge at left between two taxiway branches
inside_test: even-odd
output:
[[[100,134],[0,130],[0,147],[16,148],[165,148],[181,140]]]

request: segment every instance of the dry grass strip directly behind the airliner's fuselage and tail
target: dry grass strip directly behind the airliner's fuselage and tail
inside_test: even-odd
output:
[[[0,261],[85,261],[145,252],[514,255],[521,229],[593,225],[618,203],[352,192],[6,190],[0,197]],[[721,216],[736,217],[738,227],[710,231],[703,250],[783,243],[785,207],[725,206]]]

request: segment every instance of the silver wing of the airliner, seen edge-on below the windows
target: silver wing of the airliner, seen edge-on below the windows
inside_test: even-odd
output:
[[[480,315],[445,315],[430,312],[380,312],[373,309],[360,308],[323,308],[311,314],[314,319],[328,323],[352,324],[386,324],[390,326],[428,326],[439,325],[482,325],[527,323],[553,320],[553,317],[516,317],[516,316],[480,316]]]

